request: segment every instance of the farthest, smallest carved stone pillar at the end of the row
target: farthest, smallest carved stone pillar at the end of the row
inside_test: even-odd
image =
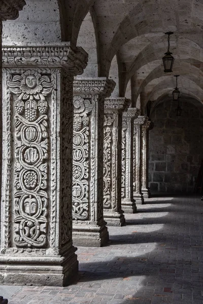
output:
[[[150,189],[148,187],[148,171],[149,171],[149,130],[153,124],[147,121],[142,126],[142,193],[144,198],[150,197]]]

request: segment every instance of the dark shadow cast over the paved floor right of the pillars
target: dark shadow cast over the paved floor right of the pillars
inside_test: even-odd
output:
[[[136,257],[132,253],[131,257],[118,255],[108,261],[80,263],[78,281],[91,282],[92,288],[94,288],[94,282],[98,284],[99,280],[110,280],[110,284],[115,280],[125,282],[126,289],[121,290],[121,293],[127,293],[129,296],[122,302],[119,301],[120,304],[202,303],[203,221],[201,214],[203,203],[196,201],[193,206],[190,205],[192,200],[186,205],[178,201],[179,199],[176,198],[171,206],[162,211],[159,210],[159,212],[168,212],[166,216],[134,218],[126,222],[127,225],[163,224],[162,229],[157,226],[154,232],[134,231],[131,234],[110,237],[110,247],[114,250],[121,248],[117,245],[125,244],[125,250],[128,250],[129,246],[129,254],[131,254],[133,250],[130,245],[137,244],[140,245],[140,254],[137,251]],[[167,202],[162,201],[163,203]],[[148,214],[151,210],[141,211]],[[151,212],[157,212],[157,210]],[[155,248],[145,253],[145,247],[142,246],[148,246],[154,242]],[[138,277],[142,277],[139,285]],[[113,279],[114,281],[111,281]],[[136,288],[138,291],[134,293]],[[116,301],[103,301],[103,303],[116,304]]]

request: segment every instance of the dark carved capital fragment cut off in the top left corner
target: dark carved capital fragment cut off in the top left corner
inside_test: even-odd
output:
[[[18,18],[18,12],[23,9],[25,4],[24,0],[0,0],[0,20]]]

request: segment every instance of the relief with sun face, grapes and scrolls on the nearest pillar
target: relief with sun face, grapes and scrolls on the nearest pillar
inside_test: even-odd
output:
[[[48,102],[53,81],[28,69],[10,74],[7,81],[14,95],[14,244],[39,248],[47,244],[48,206]],[[17,98],[15,97],[17,96]]]

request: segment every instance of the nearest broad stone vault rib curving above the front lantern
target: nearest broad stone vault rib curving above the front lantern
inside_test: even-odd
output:
[[[102,3],[102,1],[101,1]],[[133,37],[139,36],[145,33],[159,32],[164,35],[164,32],[167,30],[174,30],[179,33],[184,33],[184,35],[195,43],[200,43],[201,39],[199,35],[194,35],[194,30],[198,32],[201,30],[202,21],[196,17],[196,11],[198,11],[197,6],[193,6],[191,1],[185,1],[185,16],[184,19],[182,16],[183,7],[180,6],[177,1],[173,0],[170,5],[175,8],[177,14],[173,14],[174,9],[170,10],[170,16],[168,16],[167,6],[159,5],[159,3],[154,3],[154,1],[140,1],[136,7],[133,8],[123,19],[123,21],[117,25],[117,30],[115,31],[116,25],[114,23],[113,30],[108,34],[108,26],[112,23],[114,14],[108,15],[107,11],[103,12],[106,14],[107,22],[100,22],[99,26],[101,32],[105,32],[106,36],[103,40],[104,43],[101,45],[101,58],[106,60],[104,64],[103,73],[108,73],[110,62],[116,52],[120,47],[133,39]],[[100,7],[102,4],[100,4]],[[168,18],[166,18],[168,16]],[[109,17],[109,20],[108,20]],[[103,18],[105,19],[105,18]],[[117,20],[117,19],[116,19]],[[181,22],[180,22],[181,21]],[[119,22],[118,22],[119,23]],[[173,24],[173,26],[172,26]],[[112,32],[115,32],[112,38]],[[201,42],[202,44],[202,42]],[[105,60],[104,60],[105,61]]]

